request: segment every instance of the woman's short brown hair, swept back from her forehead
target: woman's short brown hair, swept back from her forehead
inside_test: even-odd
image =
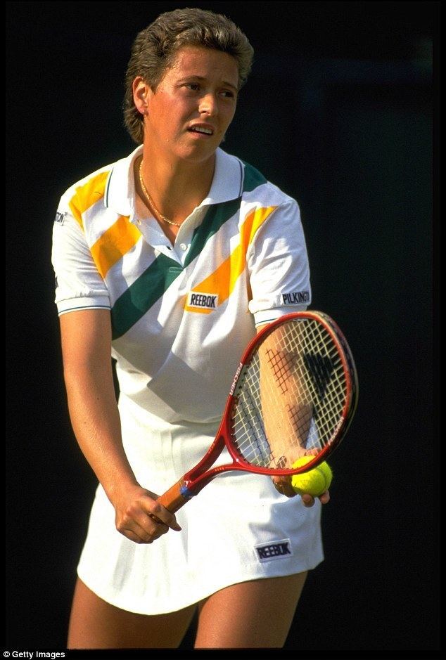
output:
[[[167,11],[137,34],[125,75],[124,123],[134,141],[144,139],[144,117],[136,110],[132,84],[142,76],[153,91],[172,66],[179,48],[204,46],[233,56],[238,64],[238,89],[248,78],[253,47],[234,22],[212,11],[186,8]]]

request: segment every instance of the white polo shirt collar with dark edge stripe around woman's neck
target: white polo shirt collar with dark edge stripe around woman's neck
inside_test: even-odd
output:
[[[131,154],[113,164],[108,174],[105,204],[122,216],[135,214],[135,186],[133,164],[136,157],[141,155],[142,145],[139,145]],[[218,148],[215,152],[215,172],[208,196],[200,206],[221,204],[229,200],[236,200],[241,196],[243,189],[243,164]]]

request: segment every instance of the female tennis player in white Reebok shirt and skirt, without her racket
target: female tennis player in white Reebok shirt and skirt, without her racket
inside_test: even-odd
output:
[[[177,515],[157,501],[210,446],[249,340],[311,301],[298,204],[219,147],[252,59],[223,15],[158,16],[127,69],[137,148],[57,209],[68,406],[99,481],[72,649],[178,647],[197,609],[198,649],[282,647],[323,559],[328,491],[227,472]]]

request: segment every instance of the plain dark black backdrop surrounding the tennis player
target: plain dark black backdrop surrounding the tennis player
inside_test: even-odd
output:
[[[96,486],[63,387],[50,261],[58,199],[134,148],[120,108],[136,33],[162,11],[200,6],[229,15],[256,53],[224,148],[300,203],[312,308],[338,321],[359,372],[357,416],[331,460],[326,560],[310,574],[286,649],[433,656],[440,3],[6,6],[6,648],[64,649]]]

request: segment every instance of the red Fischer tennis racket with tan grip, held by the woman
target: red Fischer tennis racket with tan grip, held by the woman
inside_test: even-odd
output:
[[[320,311],[281,316],[241,357],[208,452],[158,501],[174,513],[229,470],[270,476],[312,470],[344,438],[357,394],[355,363],[333,319]],[[232,462],[214,466],[225,447]],[[293,468],[304,455],[312,458]]]

